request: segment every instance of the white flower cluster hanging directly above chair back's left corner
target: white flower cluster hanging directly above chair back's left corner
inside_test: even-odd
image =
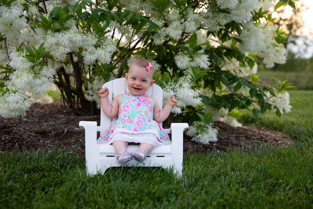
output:
[[[111,54],[116,50],[116,42],[113,39],[102,37],[99,40],[94,33],[85,36],[82,46],[83,61],[86,65],[91,65],[97,60],[103,65],[110,64]]]

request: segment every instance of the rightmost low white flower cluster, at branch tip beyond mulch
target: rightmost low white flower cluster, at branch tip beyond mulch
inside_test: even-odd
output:
[[[281,114],[283,114],[284,111],[290,112],[291,105],[289,93],[287,91],[283,92],[276,91],[275,95],[276,97],[271,95],[269,92],[266,92],[266,97],[268,97],[266,102],[272,105],[272,110],[276,112],[275,107],[277,107]]]

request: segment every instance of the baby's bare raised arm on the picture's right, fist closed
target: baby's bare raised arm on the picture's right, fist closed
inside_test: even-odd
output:
[[[153,120],[155,120],[157,123],[162,123],[171,113],[172,108],[177,104],[177,100],[173,95],[168,97],[166,105],[161,110],[159,103],[156,101],[155,98],[153,98]]]

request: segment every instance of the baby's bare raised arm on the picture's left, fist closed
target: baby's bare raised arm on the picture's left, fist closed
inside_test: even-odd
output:
[[[119,107],[120,107],[119,104],[121,103],[121,99],[123,95],[119,94],[116,97],[114,97],[112,103],[110,104],[109,98],[108,98],[109,89],[107,87],[100,89],[100,91],[98,91],[98,94],[101,100],[102,111],[104,112],[106,117],[108,118],[116,117],[119,111]]]

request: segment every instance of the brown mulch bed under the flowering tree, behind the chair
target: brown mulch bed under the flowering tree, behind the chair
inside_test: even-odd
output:
[[[79,128],[79,121],[97,121],[100,115],[87,112],[75,112],[62,106],[60,102],[51,104],[35,103],[24,117],[0,117],[0,150],[30,151],[31,149],[69,149],[73,154],[85,153],[85,130]],[[216,149],[226,152],[228,149],[254,149],[270,146],[273,149],[286,147],[292,143],[290,138],[274,130],[264,130],[243,126],[233,128],[220,121],[214,121],[218,127],[218,141],[209,145],[192,142],[184,134],[184,153],[207,152]]]

